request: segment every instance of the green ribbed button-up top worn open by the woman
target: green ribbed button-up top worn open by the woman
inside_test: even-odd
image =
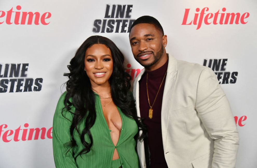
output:
[[[68,151],[69,147],[64,145],[71,140],[71,121],[69,120],[72,120],[73,117],[73,115],[68,111],[63,112],[63,115],[67,119],[62,116],[65,95],[66,92],[60,97],[56,107],[55,115],[53,117],[53,156],[55,160],[55,166],[57,168],[111,168],[112,156],[115,148],[118,151],[120,162],[123,168],[139,167],[138,155],[135,149],[136,141],[134,139],[134,136],[138,132],[136,121],[125,116],[125,114],[121,112],[120,108],[117,107],[122,120],[122,128],[117,146],[114,146],[111,140],[110,130],[103,115],[100,97],[97,94],[95,94],[96,121],[92,128],[90,128],[90,132],[93,138],[93,145],[90,152],[78,156],[75,161],[72,156],[72,150]],[[73,106],[71,111],[75,112],[75,108]],[[79,131],[82,132],[84,127],[85,120],[79,124]],[[77,156],[78,153],[84,149],[84,146],[80,141],[80,136],[77,131],[73,132],[73,136],[77,143],[77,146],[74,147],[73,150],[75,152],[75,156]],[[88,135],[85,135],[85,140],[87,142],[90,141]]]

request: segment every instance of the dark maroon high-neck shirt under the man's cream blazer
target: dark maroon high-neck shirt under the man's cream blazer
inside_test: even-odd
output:
[[[150,104],[153,104],[154,98],[158,92],[160,87],[161,81],[163,80],[164,74],[168,68],[168,60],[167,62],[154,71],[145,71],[139,81],[139,108],[140,108],[140,115],[143,118],[143,122],[146,124],[148,129],[148,140],[145,142],[145,152],[146,157],[148,152],[150,152],[150,167],[151,168],[165,168],[167,163],[164,157],[164,150],[163,150],[163,139],[161,135],[161,104],[163,101],[163,91],[165,85],[164,78],[163,84],[161,85],[160,91],[157,95],[155,103],[153,105],[153,118],[150,119],[149,115],[149,103],[147,99],[147,91],[146,91],[146,74],[148,73],[148,95]],[[167,75],[167,74],[166,74]],[[149,160],[146,158],[146,161]]]

